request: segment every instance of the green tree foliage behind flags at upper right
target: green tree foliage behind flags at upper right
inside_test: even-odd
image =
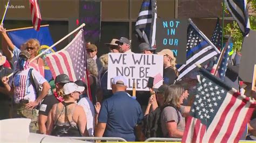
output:
[[[252,6],[253,11],[256,12],[255,11],[256,0],[249,1],[248,3],[251,3],[250,6]],[[225,9],[225,13],[228,13],[227,9]],[[256,16],[250,16],[249,19],[250,19],[251,30],[256,30]],[[233,39],[233,50],[241,51],[242,40],[244,39],[244,37],[242,36],[239,26],[235,21],[233,21],[232,23],[228,23],[224,27],[224,35],[231,34],[231,32],[232,32],[232,39]]]

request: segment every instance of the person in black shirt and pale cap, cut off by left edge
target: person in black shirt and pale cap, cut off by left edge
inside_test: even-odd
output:
[[[5,61],[6,57],[0,53],[0,79],[12,73],[11,69],[3,67]],[[0,120],[9,118],[10,104],[11,97],[6,94],[4,84],[0,81]]]

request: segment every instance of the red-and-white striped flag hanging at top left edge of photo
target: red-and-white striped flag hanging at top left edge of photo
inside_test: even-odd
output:
[[[36,31],[39,31],[41,25],[41,13],[37,0],[29,0],[30,2],[30,13],[32,16],[32,24]]]

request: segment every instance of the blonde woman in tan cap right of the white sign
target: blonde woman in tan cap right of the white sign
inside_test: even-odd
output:
[[[164,84],[171,85],[175,83],[179,73],[175,67],[176,58],[174,58],[173,52],[170,49],[163,49],[157,54],[164,56]]]

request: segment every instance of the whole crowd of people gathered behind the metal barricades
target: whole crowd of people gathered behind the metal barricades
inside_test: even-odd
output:
[[[53,84],[49,84],[30,67],[30,60],[40,47],[38,40],[29,39],[17,48],[3,26],[0,32],[7,43],[2,47],[5,55],[0,53],[0,119],[30,118],[30,132],[58,137],[120,137],[144,141],[150,137],[145,120],[158,113],[157,137],[183,137],[197,80],[176,81],[179,73],[170,49],[156,53],[149,44],[138,46],[142,54],[163,55],[164,82],[158,89],[137,91],[133,98],[131,91],[126,90],[127,77],[114,77],[112,90],[107,89],[108,54],[98,58],[94,44],[86,45],[89,85],[82,80],[70,81],[66,74],[57,75]],[[106,46],[111,53],[132,53],[130,40],[125,37],[112,39]],[[42,58],[31,62],[44,65]],[[14,75],[8,77],[11,73]],[[87,95],[89,87],[92,100]],[[255,132],[252,126],[250,131]]]

